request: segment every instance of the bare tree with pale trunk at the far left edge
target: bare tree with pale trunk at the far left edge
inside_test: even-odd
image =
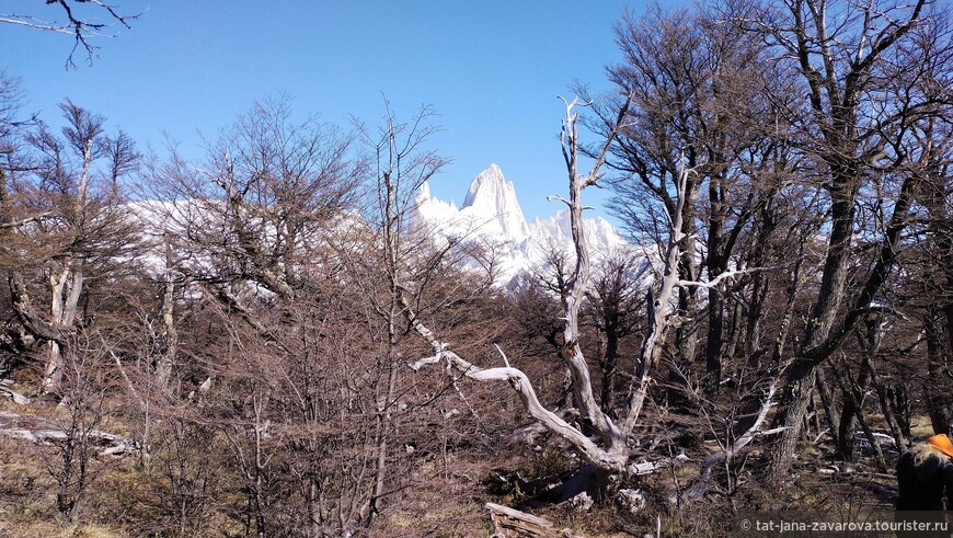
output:
[[[60,347],[79,321],[88,278],[115,268],[120,259],[131,261],[135,252],[133,227],[117,207],[117,183],[138,159],[135,146],[122,131],[115,139],[106,135],[101,116],[69,101],[60,110],[67,121],[62,137],[41,123],[14,156],[3,190],[13,310],[19,327],[46,346],[47,391],[58,385]],[[106,157],[113,165],[103,170],[97,164]],[[47,281],[48,296],[43,287],[34,289],[34,277]],[[49,301],[46,312],[35,296]]]

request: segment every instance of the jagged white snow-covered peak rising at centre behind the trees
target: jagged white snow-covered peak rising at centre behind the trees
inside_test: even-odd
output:
[[[523,273],[542,267],[552,251],[572,251],[569,209],[549,218],[526,222],[516,188],[503,171],[491,164],[470,183],[460,208],[435,198],[429,186],[421,186],[411,214],[411,226],[435,240],[449,238],[476,241],[497,256],[497,283],[507,285]],[[629,249],[629,243],[600,217],[583,222],[594,261]]]

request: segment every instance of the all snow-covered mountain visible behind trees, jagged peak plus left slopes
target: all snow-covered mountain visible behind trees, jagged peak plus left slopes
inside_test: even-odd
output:
[[[145,251],[139,262],[147,271],[162,274],[165,271],[164,239],[171,239],[175,263],[196,274],[220,272],[220,255],[228,245],[222,243],[230,236],[223,219],[220,202],[180,199],[176,202],[143,201],[127,206],[130,218],[141,227]],[[275,240],[274,227],[267,221],[251,221],[261,233],[265,250]],[[328,226],[328,222],[322,225]],[[366,228],[367,224],[355,213],[345,211],[333,219],[330,229],[315,230],[300,238],[308,244],[322,243],[331,237],[346,238],[347,230]],[[536,218],[527,224],[514,184],[503,175],[496,164],[491,164],[478,174],[470,184],[463,205],[444,202],[430,194],[428,185],[421,186],[410,214],[412,230],[425,233],[441,242],[450,239],[474,242],[494,259],[495,279],[500,286],[509,287],[521,282],[527,274],[547,274],[548,260],[553,252],[564,254],[564,260],[574,260],[567,208],[549,218]],[[584,230],[594,268],[602,259],[619,254],[645,257],[602,218],[587,218]],[[328,236],[330,233],[330,236]],[[186,249],[182,241],[186,238]],[[183,243],[183,244],[185,244]],[[473,268],[484,268],[485,257],[464,262]],[[572,262],[570,262],[572,263]]]

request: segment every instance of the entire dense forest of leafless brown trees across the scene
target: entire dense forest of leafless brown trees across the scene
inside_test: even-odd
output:
[[[81,103],[50,128],[0,73],[0,535],[892,510],[898,456],[953,420],[950,18],[623,16],[613,91],[553,110],[573,244],[508,288],[500,245],[411,226],[446,164],[430,108],[334,125],[263,98],[196,161]],[[594,186],[633,245],[608,259]]]

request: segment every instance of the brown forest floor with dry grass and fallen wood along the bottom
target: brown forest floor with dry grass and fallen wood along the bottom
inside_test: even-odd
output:
[[[46,410],[44,412],[49,412]],[[30,428],[43,424],[33,416],[37,408],[0,400],[0,430]],[[34,421],[31,424],[31,421]],[[929,434],[929,423],[917,419],[915,435]],[[118,432],[123,433],[123,432]],[[579,502],[548,504],[546,489],[571,472],[572,465],[555,450],[498,454],[493,458],[456,456],[452,473],[422,468],[422,487],[409,491],[401,507],[379,522],[384,534],[374,536],[487,537],[493,533],[487,502],[525,510],[552,522],[563,536],[621,538],[655,536],[725,536],[733,525],[732,514],[749,511],[791,510],[824,514],[851,514],[864,511],[889,513],[896,500],[893,469],[882,472],[859,447],[858,463],[835,461],[820,449],[805,449],[791,470],[791,480],[768,488],[755,479],[767,465],[767,456],[751,450],[727,483],[692,503],[679,500],[679,491],[698,473],[692,460],[644,477],[638,489],[644,506],[622,506],[617,500],[593,506]],[[887,460],[895,461],[892,448]],[[50,459],[35,443],[0,435],[0,537],[118,538],[156,536],[158,529],[143,531],[148,517],[148,495],[138,458],[96,456],[92,465],[100,474],[84,492],[77,520],[64,519],[57,512],[58,484]],[[697,459],[694,459],[697,460]],[[435,478],[436,477],[436,478]],[[721,481],[726,483],[725,480]],[[145,503],[145,504],[143,504]],[[226,518],[222,525],[228,526]],[[554,535],[558,536],[558,535]]]

